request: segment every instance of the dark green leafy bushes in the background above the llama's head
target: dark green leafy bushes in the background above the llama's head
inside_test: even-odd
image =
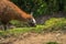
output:
[[[34,13],[34,16],[66,11],[65,0],[11,0],[22,10]]]

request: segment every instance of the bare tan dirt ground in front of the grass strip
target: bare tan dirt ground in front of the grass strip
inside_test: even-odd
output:
[[[48,33],[24,33],[16,36],[0,38],[0,44],[46,44],[47,42],[57,42],[66,44],[66,33],[64,32],[48,32]]]

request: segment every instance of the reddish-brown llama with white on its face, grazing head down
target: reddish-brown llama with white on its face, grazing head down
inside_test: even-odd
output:
[[[4,30],[7,30],[7,24],[11,20],[24,21],[32,26],[36,25],[35,19],[31,14],[19,9],[9,0],[0,0],[0,21],[2,22]]]

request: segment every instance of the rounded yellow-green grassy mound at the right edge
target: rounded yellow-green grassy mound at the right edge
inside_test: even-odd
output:
[[[45,22],[45,29],[51,30],[65,30],[66,28],[66,19],[65,18],[52,18]]]

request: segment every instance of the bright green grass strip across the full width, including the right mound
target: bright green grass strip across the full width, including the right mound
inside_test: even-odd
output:
[[[44,25],[36,25],[36,28],[15,28],[13,30],[0,31],[0,36],[19,35],[26,32],[43,33],[54,30],[66,30],[66,18],[52,18]]]

